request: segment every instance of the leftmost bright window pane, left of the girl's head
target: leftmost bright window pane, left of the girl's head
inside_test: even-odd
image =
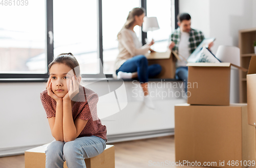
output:
[[[12,5],[1,5],[0,73],[45,74],[45,1],[29,1],[27,5],[18,2],[15,6],[13,1]]]

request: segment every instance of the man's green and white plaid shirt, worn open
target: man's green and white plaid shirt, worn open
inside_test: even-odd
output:
[[[203,41],[204,35],[201,31],[197,31],[195,29],[191,29],[189,32],[189,52],[193,53],[197,46]],[[175,42],[175,46],[173,51],[178,53],[178,46],[180,43],[180,28],[176,29],[172,35],[170,35],[169,41]]]

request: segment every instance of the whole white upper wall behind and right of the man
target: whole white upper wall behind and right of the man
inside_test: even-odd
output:
[[[205,37],[216,37],[212,52],[219,45],[238,46],[238,32],[256,27],[255,0],[180,0],[180,12],[191,15],[191,27]]]

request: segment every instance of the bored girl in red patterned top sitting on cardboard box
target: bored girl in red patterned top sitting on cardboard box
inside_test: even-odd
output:
[[[49,64],[47,89],[40,93],[55,138],[46,150],[46,168],[86,167],[84,158],[102,153],[106,127],[97,117],[98,94],[81,82],[79,64],[71,53],[58,55]]]

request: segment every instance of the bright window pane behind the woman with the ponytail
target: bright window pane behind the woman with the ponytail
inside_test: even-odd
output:
[[[113,4],[115,4],[115,6],[113,6]],[[139,0],[126,2],[120,0],[102,0],[104,74],[112,74],[114,71],[114,61],[118,55],[117,34],[122,29],[129,11],[135,7],[140,7]],[[136,26],[134,30],[137,36],[140,36],[140,28]]]

